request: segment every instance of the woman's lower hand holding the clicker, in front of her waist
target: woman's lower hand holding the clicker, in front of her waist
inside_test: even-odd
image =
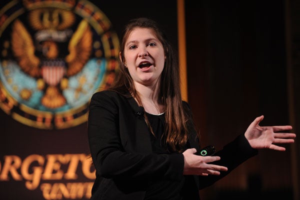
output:
[[[195,155],[195,148],[188,148],[182,154],[184,157],[183,175],[219,175],[220,171],[227,171],[227,167],[209,164],[219,160],[219,156]]]

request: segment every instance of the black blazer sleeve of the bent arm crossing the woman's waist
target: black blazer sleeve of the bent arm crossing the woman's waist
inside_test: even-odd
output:
[[[126,152],[120,139],[118,103],[104,92],[93,94],[88,111],[88,141],[96,175],[105,178],[155,180],[183,178],[182,153]],[[135,131],[135,130],[132,130]]]

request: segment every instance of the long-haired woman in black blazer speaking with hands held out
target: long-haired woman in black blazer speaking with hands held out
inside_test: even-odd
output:
[[[228,174],[257,149],[285,150],[286,126],[255,118],[213,156],[201,156],[191,110],[181,100],[177,57],[158,24],[129,21],[114,85],[93,94],[88,139],[96,179],[91,199],[199,199],[198,190]]]

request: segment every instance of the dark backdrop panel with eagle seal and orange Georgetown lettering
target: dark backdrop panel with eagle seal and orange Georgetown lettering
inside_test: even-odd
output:
[[[120,31],[138,16],[159,20],[176,47],[175,0],[1,1],[1,199],[90,197],[88,102],[113,81]]]

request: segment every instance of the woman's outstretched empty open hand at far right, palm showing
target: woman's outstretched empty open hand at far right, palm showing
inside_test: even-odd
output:
[[[269,148],[284,151],[284,147],[275,144],[294,142],[295,133],[280,132],[291,130],[292,127],[290,125],[259,126],[258,124],[262,119],[263,115],[256,117],[245,131],[244,135],[252,148]]]

